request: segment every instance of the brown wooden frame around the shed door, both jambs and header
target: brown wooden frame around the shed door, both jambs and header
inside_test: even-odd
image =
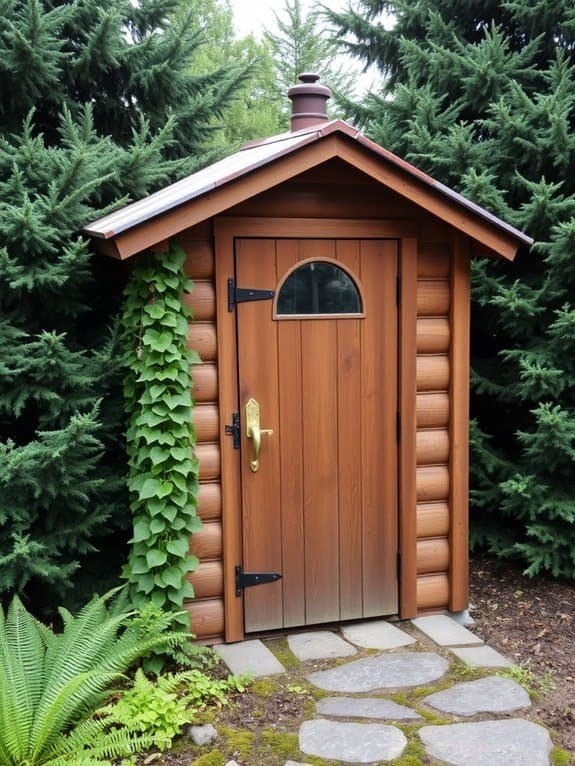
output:
[[[330,218],[214,218],[218,385],[222,483],[225,640],[244,638],[243,599],[236,596],[235,567],[243,563],[240,450],[226,434],[232,413],[239,411],[236,313],[228,311],[228,279],[235,275],[234,240],[395,239],[398,273],[398,445],[399,616],[416,612],[416,331],[417,223],[413,220]]]

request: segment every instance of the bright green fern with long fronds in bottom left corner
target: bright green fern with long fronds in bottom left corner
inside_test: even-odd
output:
[[[151,744],[93,714],[122,674],[152,650],[181,645],[182,633],[149,639],[114,610],[117,589],[77,616],[60,609],[61,633],[33,617],[18,597],[0,609],[0,764],[109,766]]]

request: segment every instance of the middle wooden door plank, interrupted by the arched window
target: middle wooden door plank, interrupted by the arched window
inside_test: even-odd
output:
[[[333,258],[333,240],[305,240],[304,258]],[[306,622],[339,618],[337,324],[301,322]]]

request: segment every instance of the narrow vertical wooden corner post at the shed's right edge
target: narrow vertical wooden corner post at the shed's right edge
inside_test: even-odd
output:
[[[469,240],[462,234],[456,233],[453,238],[451,271],[451,382],[449,387],[451,443],[449,609],[453,612],[467,609],[468,606],[469,321]]]

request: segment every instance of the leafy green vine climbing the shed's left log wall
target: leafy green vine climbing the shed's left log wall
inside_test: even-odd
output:
[[[186,577],[198,559],[189,553],[189,541],[201,529],[190,373],[200,360],[187,348],[191,311],[182,295],[193,285],[184,274],[184,259],[173,244],[169,253],[141,256],[123,312],[133,516],[124,575],[136,606],[152,601],[173,612],[194,595]],[[177,620],[189,625],[187,613]]]

